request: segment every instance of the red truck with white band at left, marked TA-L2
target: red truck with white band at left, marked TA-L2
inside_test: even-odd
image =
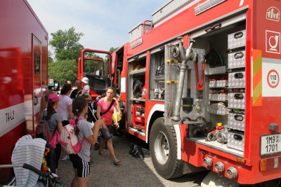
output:
[[[0,165],[11,163],[15,142],[34,134],[39,103],[48,89],[48,32],[26,0],[0,6]],[[0,169],[0,183],[11,174]]]

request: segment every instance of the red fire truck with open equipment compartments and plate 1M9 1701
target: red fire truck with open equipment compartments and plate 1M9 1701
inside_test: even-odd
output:
[[[280,178],[280,10],[279,0],[169,1],[111,55],[126,130],[149,143],[162,177]]]

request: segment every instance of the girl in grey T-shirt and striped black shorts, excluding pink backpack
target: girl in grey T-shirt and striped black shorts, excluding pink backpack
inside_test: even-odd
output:
[[[90,174],[90,148],[91,145],[96,144],[98,138],[98,131],[102,125],[105,124],[103,119],[97,120],[95,125],[89,123],[87,118],[88,103],[84,97],[76,97],[72,102],[72,111],[74,113],[75,134],[81,143],[81,150],[77,154],[70,154],[70,160],[74,168],[74,178],[71,186],[88,186]],[[82,139],[85,139],[82,141]]]

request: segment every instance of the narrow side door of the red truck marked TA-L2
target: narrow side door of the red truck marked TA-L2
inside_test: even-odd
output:
[[[32,116],[33,130],[39,122],[40,99],[42,95],[41,88],[41,41],[36,36],[32,36]]]

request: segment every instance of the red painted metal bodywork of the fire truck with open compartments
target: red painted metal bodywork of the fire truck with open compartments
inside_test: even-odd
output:
[[[202,1],[203,2],[203,1]],[[202,3],[200,1],[200,3]],[[281,60],[280,55],[280,39],[277,43],[277,53],[267,53],[266,42],[269,38],[266,38],[266,31],[274,31],[277,34],[281,33],[281,24],[280,20],[270,21],[266,19],[266,13],[270,7],[275,7],[281,10],[280,1],[257,1],[257,0],[228,0],[224,1],[218,6],[214,6],[208,11],[201,13],[200,15],[195,15],[194,6],[188,8],[188,10],[179,13],[164,22],[162,25],[152,29],[150,32],[145,33],[141,36],[142,39],[141,45],[131,48],[130,43],[126,43],[122,50],[124,50],[124,63],[123,71],[121,73],[122,78],[127,78],[128,76],[128,58],[146,53],[146,74],[145,80],[149,80],[149,69],[150,67],[150,50],[156,46],[162,46],[169,41],[176,39],[177,36],[183,36],[183,46],[188,47],[189,43],[189,34],[194,32],[196,29],[206,25],[208,22],[213,20],[219,20],[228,14],[239,14],[245,13],[246,15],[246,103],[245,106],[245,147],[244,147],[244,162],[238,162],[237,156],[223,151],[218,151],[215,148],[204,146],[202,144],[197,144],[195,141],[190,141],[188,139],[188,134],[186,132],[187,125],[180,125],[181,129],[181,150],[182,150],[182,160],[189,162],[195,166],[204,166],[203,158],[204,154],[209,155],[213,159],[213,162],[221,161],[225,164],[225,167],[235,166],[238,169],[238,177],[234,179],[238,183],[259,183],[262,181],[268,181],[271,179],[277,179],[280,177],[281,168],[268,170],[266,172],[261,172],[259,169],[259,162],[262,158],[269,158],[272,156],[280,155],[280,153],[275,153],[274,155],[260,155],[261,147],[261,136],[263,134],[273,134],[280,133],[280,121],[281,116],[277,114],[277,111],[280,111],[281,97],[261,97],[261,104],[259,106],[254,106],[253,99],[253,53],[254,50],[261,51],[262,58]],[[280,14],[279,14],[280,17]],[[280,36],[280,35],[279,35]],[[137,39],[138,40],[138,39]],[[131,42],[133,43],[133,42]],[[117,52],[113,53],[113,62],[115,63]],[[261,70],[259,70],[261,71]],[[116,66],[112,66],[112,72],[116,72]],[[280,71],[279,71],[280,72]],[[115,74],[116,76],[116,74]],[[127,80],[127,79],[126,79]],[[264,82],[263,82],[264,83]],[[125,83],[126,89],[129,89],[127,81]],[[279,85],[280,86],[280,85]],[[151,91],[148,88],[148,81],[145,81],[146,90],[148,93]],[[128,103],[127,101],[127,92],[121,92],[121,101]],[[145,131],[147,130],[149,124],[153,122],[148,122],[148,116],[150,111],[155,104],[164,104],[164,102],[159,101],[150,101],[150,99],[145,98]],[[127,106],[125,104],[125,106]],[[126,109],[127,113],[131,113],[132,109]],[[270,123],[275,123],[279,125],[279,130],[272,131],[268,129]],[[151,124],[150,124],[151,125]],[[147,133],[145,137],[136,134],[133,131],[129,130],[129,133],[136,135],[140,139],[147,140],[149,139]],[[214,171],[214,166],[210,168]],[[226,172],[223,172],[223,175],[227,177]]]

